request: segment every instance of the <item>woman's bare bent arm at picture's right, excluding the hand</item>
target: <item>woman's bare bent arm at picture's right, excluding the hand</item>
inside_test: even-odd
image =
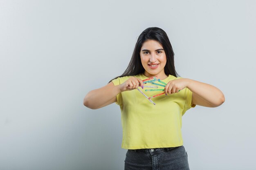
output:
[[[219,106],[225,101],[224,94],[222,93],[222,91],[220,91],[220,89],[216,88],[215,86],[198,82],[193,79],[187,80],[187,88],[189,88],[189,90],[193,93],[196,93],[209,104],[212,104],[213,106]]]

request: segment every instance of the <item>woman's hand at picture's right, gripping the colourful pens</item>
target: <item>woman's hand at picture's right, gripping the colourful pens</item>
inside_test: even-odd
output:
[[[186,88],[188,80],[186,78],[174,79],[168,82],[164,88],[164,93],[171,95],[173,93],[178,93],[183,88]]]

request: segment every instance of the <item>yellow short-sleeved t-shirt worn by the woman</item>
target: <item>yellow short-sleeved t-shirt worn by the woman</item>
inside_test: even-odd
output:
[[[114,85],[125,82],[131,76],[118,77],[112,80]],[[147,79],[143,73],[135,75],[141,80]],[[175,77],[169,75],[162,82],[168,83]],[[158,84],[161,84],[157,82]],[[144,86],[158,86],[155,84],[144,84]],[[163,93],[163,91],[145,91],[139,89],[148,97]],[[158,89],[164,89],[158,86]],[[117,95],[117,102],[121,109],[121,122],[123,128],[123,140],[121,148],[143,149],[143,148],[169,148],[183,145],[182,139],[182,115],[194,108],[191,104],[192,92],[188,88],[171,95],[160,95],[151,98],[156,105],[152,104],[137,89],[124,91]]]

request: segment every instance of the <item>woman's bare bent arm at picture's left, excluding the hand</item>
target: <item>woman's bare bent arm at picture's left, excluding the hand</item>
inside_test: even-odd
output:
[[[99,108],[106,104],[111,99],[116,98],[117,94],[121,93],[119,85],[117,86],[104,86],[90,91],[83,99],[83,104],[92,109]]]

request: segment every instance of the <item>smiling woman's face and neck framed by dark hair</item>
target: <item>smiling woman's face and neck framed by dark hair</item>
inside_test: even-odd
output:
[[[145,69],[146,77],[158,76],[159,79],[165,79],[164,66],[166,64],[166,55],[164,48],[155,40],[147,40],[141,46],[140,51],[141,64]]]

